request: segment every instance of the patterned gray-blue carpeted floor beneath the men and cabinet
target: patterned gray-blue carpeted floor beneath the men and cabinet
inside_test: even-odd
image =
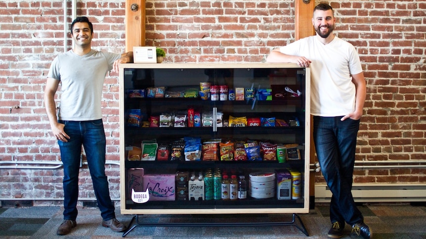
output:
[[[410,204],[361,205],[365,222],[374,232],[374,239],[426,239],[426,206]],[[128,225],[132,215],[117,218]],[[309,237],[295,226],[243,227],[135,227],[129,239],[325,239],[330,228],[328,205],[316,205],[308,214],[298,214]],[[209,223],[209,222],[280,222],[292,221],[292,214],[232,215],[141,215],[143,223]],[[296,218],[297,219],[297,218]],[[0,238],[3,239],[118,239],[116,233],[102,227],[98,208],[80,207],[77,227],[66,236],[56,235],[62,222],[60,206],[0,208]],[[296,224],[299,224],[296,220]],[[345,226],[343,239],[359,238]]]

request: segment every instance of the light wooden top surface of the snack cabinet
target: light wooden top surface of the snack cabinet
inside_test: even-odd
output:
[[[294,63],[127,63],[120,68],[304,68]]]

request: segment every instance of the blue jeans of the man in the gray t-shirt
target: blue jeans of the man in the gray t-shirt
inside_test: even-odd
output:
[[[102,119],[90,121],[59,121],[65,124],[68,142],[58,140],[64,165],[64,219],[77,218],[79,196],[79,172],[82,145],[85,148],[87,166],[93,182],[97,204],[104,220],[115,218],[114,205],[109,195],[105,175],[106,138]]]

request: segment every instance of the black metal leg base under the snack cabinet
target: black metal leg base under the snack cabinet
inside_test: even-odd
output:
[[[298,220],[300,226],[296,224],[296,219]],[[133,222],[135,223],[134,225]],[[131,227],[130,227],[131,226]],[[128,224],[128,229],[123,233],[123,238],[128,235],[136,227],[226,227],[226,226],[295,226],[298,228],[304,235],[309,237],[309,234],[303,225],[301,218],[298,214],[293,213],[293,220],[290,222],[235,222],[235,223],[141,223],[139,222],[139,215],[134,215]]]

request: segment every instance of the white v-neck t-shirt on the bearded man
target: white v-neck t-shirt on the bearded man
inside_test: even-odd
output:
[[[355,85],[351,75],[361,73],[362,67],[352,44],[335,36],[324,45],[317,36],[308,36],[281,47],[280,51],[312,61],[312,115],[342,116],[355,110]]]

